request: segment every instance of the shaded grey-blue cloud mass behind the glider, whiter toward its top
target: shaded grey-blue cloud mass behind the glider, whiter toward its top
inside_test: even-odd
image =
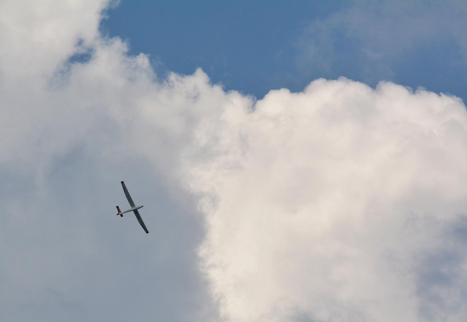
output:
[[[202,221],[171,178],[198,115],[225,93],[202,72],[159,82],[146,55],[99,34],[106,5],[0,4],[1,315],[212,320]],[[150,209],[149,238],[131,216],[115,220],[121,180]]]

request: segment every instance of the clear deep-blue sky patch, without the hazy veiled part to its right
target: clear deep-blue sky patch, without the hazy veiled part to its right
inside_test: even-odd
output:
[[[294,42],[311,19],[339,7],[308,1],[122,1],[103,28],[127,39],[132,53],[149,53],[162,73],[191,74],[201,67],[226,90],[262,97],[281,86],[303,89],[303,81],[283,80],[297,73]]]

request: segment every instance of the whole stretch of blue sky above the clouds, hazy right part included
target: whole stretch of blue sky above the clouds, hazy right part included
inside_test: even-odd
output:
[[[201,67],[257,98],[340,76],[467,98],[461,2],[121,1],[108,14],[102,29],[149,54],[160,74]]]

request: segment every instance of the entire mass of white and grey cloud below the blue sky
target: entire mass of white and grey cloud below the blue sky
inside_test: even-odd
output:
[[[202,70],[161,79],[99,34],[106,5],[0,4],[3,316],[466,319],[459,98],[340,78],[256,101]],[[147,236],[113,216],[123,179]]]

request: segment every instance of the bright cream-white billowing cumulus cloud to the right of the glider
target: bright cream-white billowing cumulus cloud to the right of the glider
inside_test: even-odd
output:
[[[199,129],[211,160],[187,172],[207,195],[202,256],[228,320],[463,320],[465,305],[433,297],[465,292],[446,236],[466,214],[466,130],[458,98],[345,78]]]

